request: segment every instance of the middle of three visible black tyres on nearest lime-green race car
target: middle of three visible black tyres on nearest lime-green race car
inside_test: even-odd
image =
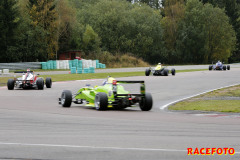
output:
[[[94,105],[96,110],[104,111],[108,107],[108,96],[104,92],[99,92],[95,96]]]

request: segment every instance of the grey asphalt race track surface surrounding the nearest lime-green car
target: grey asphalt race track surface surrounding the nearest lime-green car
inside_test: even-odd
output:
[[[177,73],[145,80],[153,96],[150,112],[72,105],[58,97],[101,80],[54,82],[53,88],[0,88],[1,160],[178,160],[239,159],[240,114],[170,112],[162,106],[207,90],[240,83],[240,68]],[[187,148],[234,148],[235,155],[187,155]]]

